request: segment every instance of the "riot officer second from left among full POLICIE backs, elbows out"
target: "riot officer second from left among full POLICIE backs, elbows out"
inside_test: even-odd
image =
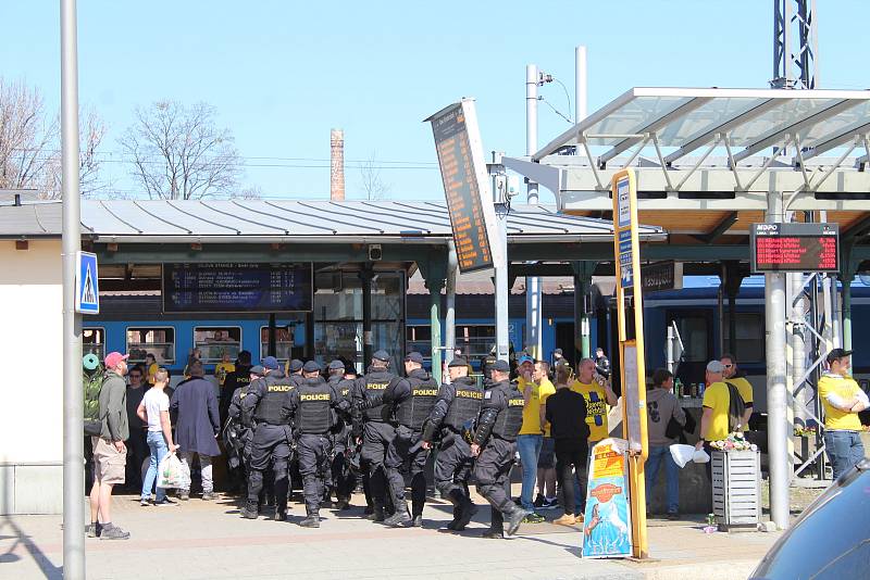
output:
[[[302,367],[303,382],[290,391],[282,417],[293,418],[299,456],[299,472],[306,497],[303,528],[320,528],[320,503],[328,477],[331,430],[336,421],[336,408],[346,411],[347,402],[333,386],[320,376],[321,367],[309,361]]]

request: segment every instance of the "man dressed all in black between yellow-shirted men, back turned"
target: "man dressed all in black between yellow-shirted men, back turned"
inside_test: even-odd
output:
[[[562,505],[564,515],[554,524],[573,526],[574,477],[571,467],[580,474],[586,469],[589,450],[589,426],[586,425],[586,399],[571,390],[571,368],[568,365],[556,367],[556,393],[547,398],[543,407],[542,425],[550,424],[550,437],[556,444],[556,472],[564,494]],[[586,490],[580,490],[585,493]],[[583,521],[583,516],[579,517]]]

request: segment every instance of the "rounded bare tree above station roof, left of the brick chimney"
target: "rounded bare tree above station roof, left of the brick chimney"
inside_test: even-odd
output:
[[[229,129],[215,126],[207,103],[159,101],[137,108],[119,139],[133,157],[133,177],[151,199],[189,200],[233,192],[239,174]]]

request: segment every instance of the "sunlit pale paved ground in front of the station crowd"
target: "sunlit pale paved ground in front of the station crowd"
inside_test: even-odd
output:
[[[355,497],[357,506],[362,497]],[[480,503],[480,499],[478,499]],[[362,507],[321,512],[316,530],[290,521],[244,520],[235,499],[191,499],[177,507],[140,507],[116,496],[113,520],[127,541],[87,540],[88,578],[444,578],[696,579],[746,578],[779,533],[705,534],[701,516],[649,522],[649,563],[582,559],[582,533],[552,524],[524,525],[508,540],[484,540],[484,507],[462,533],[440,531],[449,504],[432,501],[422,529],[389,529],[360,518]],[[558,510],[543,512],[550,519]],[[0,517],[0,577],[61,578],[59,516]]]

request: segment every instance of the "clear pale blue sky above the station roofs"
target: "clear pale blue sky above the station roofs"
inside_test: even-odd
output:
[[[858,41],[867,4],[819,7],[820,86],[870,86]],[[3,2],[0,18],[0,75],[39,87],[55,109],[58,2]],[[485,151],[522,155],[525,65],[562,80],[573,102],[576,45],[588,47],[589,111],[632,86],[766,87],[773,60],[769,0],[80,0],[78,24],[79,99],[109,127],[103,167],[119,189],[135,187],[116,143],[134,108],[173,99],[217,109],[244,157],[243,185],[270,198],[328,197],[336,127],[349,198],[361,194],[350,162],[374,156],[389,198],[443,199],[421,121],[474,97]],[[542,94],[573,114],[557,84]],[[568,126],[542,103],[539,144]]]

